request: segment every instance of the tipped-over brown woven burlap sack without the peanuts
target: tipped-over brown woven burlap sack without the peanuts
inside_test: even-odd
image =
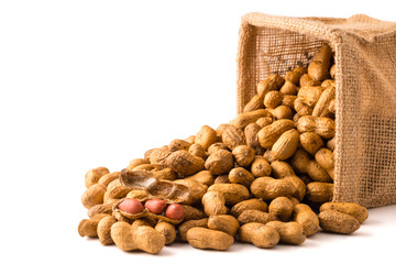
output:
[[[396,23],[350,19],[242,18],[238,112],[271,74],[306,66],[322,43],[334,52],[336,178],[333,201],[396,204]]]

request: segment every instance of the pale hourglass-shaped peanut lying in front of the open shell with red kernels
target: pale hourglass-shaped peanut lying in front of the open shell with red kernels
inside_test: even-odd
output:
[[[111,238],[122,251],[142,250],[157,254],[165,245],[165,235],[146,226],[132,228],[127,222],[117,222],[111,227]]]

